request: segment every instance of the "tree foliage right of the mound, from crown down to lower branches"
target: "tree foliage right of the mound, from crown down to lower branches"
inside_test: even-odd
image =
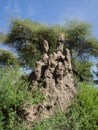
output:
[[[81,80],[92,80],[90,58],[98,56],[98,40],[92,35],[92,26],[88,23],[72,20],[66,23],[66,47],[72,55],[73,71]]]

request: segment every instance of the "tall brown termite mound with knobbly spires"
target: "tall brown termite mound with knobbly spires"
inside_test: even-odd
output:
[[[40,79],[43,79],[40,91],[45,100],[36,105],[28,105],[26,111],[29,113],[29,121],[47,118],[58,110],[64,111],[76,93],[70,52],[64,50],[64,38],[62,39],[59,36],[57,49],[49,55],[48,42],[44,40],[43,55],[36,63],[35,72],[30,74],[32,87],[36,87]]]

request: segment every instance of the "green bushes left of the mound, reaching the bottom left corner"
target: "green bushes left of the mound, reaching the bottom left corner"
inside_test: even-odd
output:
[[[43,100],[39,89],[28,90],[29,83],[22,80],[21,75],[18,67],[0,68],[0,130],[26,130],[25,123],[22,122],[22,106],[26,102],[37,103]]]

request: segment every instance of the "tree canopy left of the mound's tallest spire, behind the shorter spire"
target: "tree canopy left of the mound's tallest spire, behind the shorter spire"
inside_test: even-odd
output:
[[[65,32],[62,26],[48,26],[29,19],[14,19],[6,43],[16,47],[24,65],[32,67],[40,57],[43,39],[49,42],[50,52],[56,48],[59,32]]]

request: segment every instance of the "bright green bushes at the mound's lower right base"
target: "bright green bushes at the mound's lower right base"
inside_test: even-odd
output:
[[[67,113],[59,112],[34,124],[34,130],[98,130],[98,88],[86,82]]]

